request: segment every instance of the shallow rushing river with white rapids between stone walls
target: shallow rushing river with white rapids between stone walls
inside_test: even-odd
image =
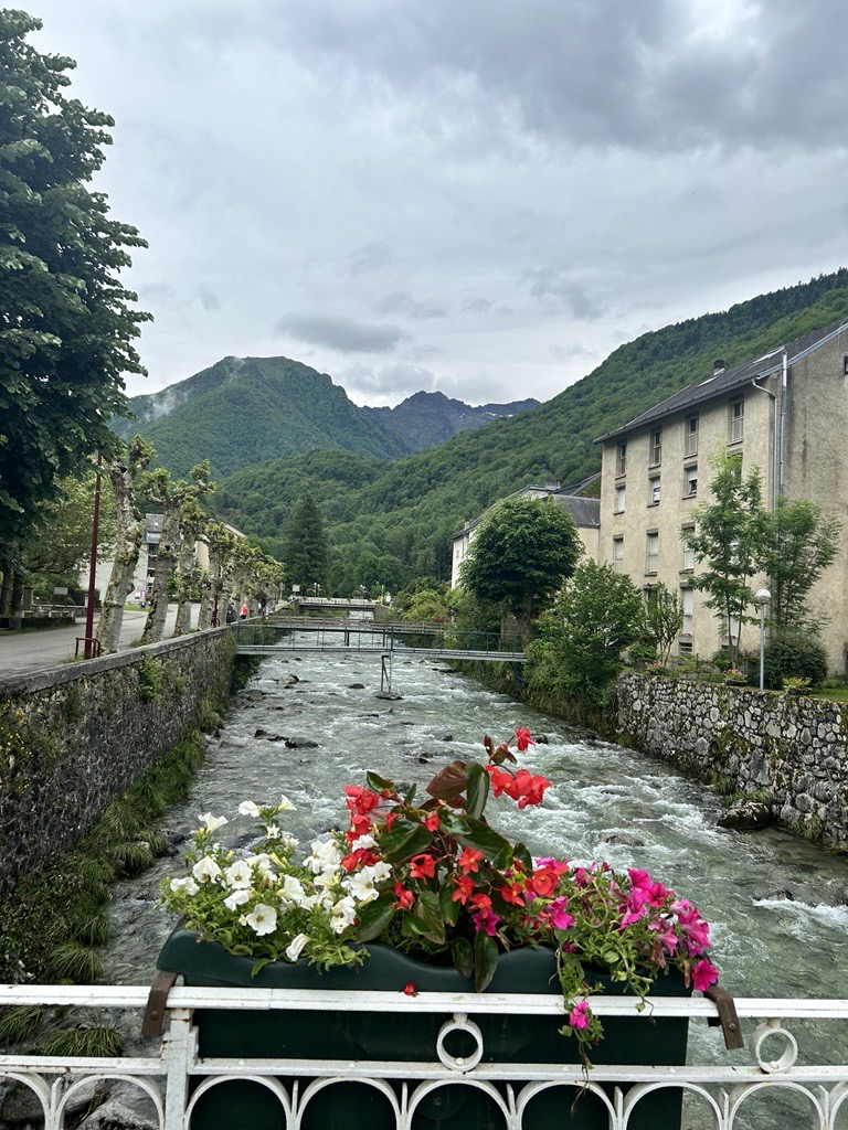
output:
[[[737,997],[846,996],[848,860],[777,829],[719,828],[720,798],[712,790],[570,730],[442,663],[396,658],[392,675],[401,696],[396,701],[375,697],[379,657],[339,651],[263,660],[211,740],[189,799],[170,811],[168,831],[190,835],[199,814],[210,811],[231,819],[220,829],[223,842],[244,842],[252,822],[236,815],[239,802],[276,802],[283,792],[295,805],[288,831],[306,843],[344,823],[344,785],[363,782],[365,770],[423,786],[445,762],[482,757],[484,734],[501,741],[516,727],[529,727],[545,740],[530,747],[523,763],[554,788],[542,806],[523,811],[491,801],[490,820],[500,831],[535,854],[646,868],[710,921],[720,982]],[[294,748],[270,740],[284,737]],[[178,864],[164,859],[115,885],[106,982],[152,980],[156,953],[175,924],[157,906],[158,884]],[[787,889],[804,898],[764,897]],[[713,1058],[727,1054],[718,1029],[692,1029],[694,1046]],[[832,1046],[820,1048],[810,1035],[801,1061],[832,1054]],[[745,1053],[733,1054],[747,1062]]]

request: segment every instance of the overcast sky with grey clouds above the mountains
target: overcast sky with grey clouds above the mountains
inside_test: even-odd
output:
[[[360,405],[547,400],[848,264],[845,0],[20,6],[115,119],[133,394],[234,354]]]

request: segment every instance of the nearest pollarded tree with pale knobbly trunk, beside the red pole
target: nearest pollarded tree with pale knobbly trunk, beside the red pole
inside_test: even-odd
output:
[[[119,459],[109,463],[109,479],[115,499],[115,559],[106,585],[97,638],[104,652],[118,651],[127,594],[132,590],[145,533],[145,519],[136,496],[136,479],[153,459],[150,444],[137,435]]]

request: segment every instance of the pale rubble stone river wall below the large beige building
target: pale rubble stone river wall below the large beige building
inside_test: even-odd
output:
[[[768,789],[786,826],[848,846],[848,707],[654,675],[617,685],[622,740],[702,781]]]

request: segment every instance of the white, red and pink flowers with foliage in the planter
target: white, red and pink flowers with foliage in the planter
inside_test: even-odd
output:
[[[533,744],[527,729],[516,739],[519,751]],[[585,1058],[603,1035],[585,1000],[600,989],[598,971],[642,998],[670,967],[694,989],[712,984],[709,924],[647,871],[534,859],[491,827],[490,792],[523,809],[542,803],[551,782],[514,767],[508,744],[486,737],[484,746],[484,764],[451,762],[421,801],[415,788],[401,796],[375,773],[348,784],[347,829],[314,841],[303,859],[280,827],[285,798],[240,806],[260,822],[250,850],[217,843],[226,819],[206,814],[187,875],[165,880],[162,899],[204,938],[257,958],[254,970],[272,959],[355,964],[367,956],[363,944],[379,940],[452,964],[483,991],[499,954],[552,949],[569,1010],[563,1032],[577,1035]]]

